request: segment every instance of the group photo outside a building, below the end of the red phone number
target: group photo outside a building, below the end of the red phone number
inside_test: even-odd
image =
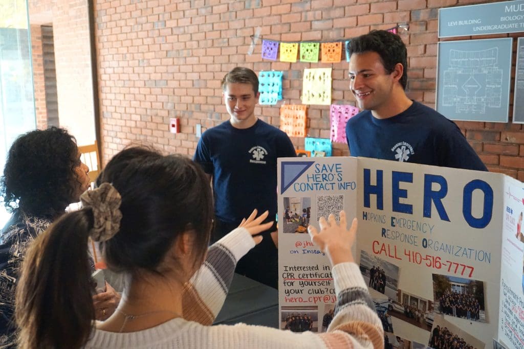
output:
[[[487,322],[484,282],[433,274],[435,313],[470,321]]]

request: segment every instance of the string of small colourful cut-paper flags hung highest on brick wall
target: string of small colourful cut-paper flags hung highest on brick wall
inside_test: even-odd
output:
[[[397,34],[399,29],[408,30],[409,24],[400,24],[386,30]],[[258,36],[252,35],[251,39],[252,46],[254,46]],[[350,41],[351,39],[329,42],[294,42],[263,39],[261,55],[263,59],[271,61],[276,61],[277,57],[280,57],[280,62],[295,63],[300,59],[300,62],[318,63],[320,53],[321,63],[338,63],[342,60],[342,51],[344,51],[346,62],[349,62],[350,55],[347,51],[347,44]],[[344,50],[342,45],[344,45]]]

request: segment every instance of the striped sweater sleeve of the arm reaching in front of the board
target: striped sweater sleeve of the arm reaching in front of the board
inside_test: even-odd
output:
[[[355,263],[332,269],[337,302],[328,332],[321,334],[328,348],[384,348],[384,330],[366,283]]]

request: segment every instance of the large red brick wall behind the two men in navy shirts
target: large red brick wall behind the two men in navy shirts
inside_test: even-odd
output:
[[[409,31],[400,35],[409,54],[408,96],[434,107],[438,8],[484,2],[96,0],[104,159],[137,141],[155,144],[167,152],[193,154],[198,141],[196,123],[205,130],[228,118],[220,80],[237,65],[256,72],[282,70],[280,103],[286,104],[301,103],[304,68],[332,67],[333,103],[354,105],[348,91],[347,63],[264,61],[260,40],[249,55],[250,35],[258,27],[264,39],[330,41],[407,22]],[[278,127],[279,105],[259,106],[255,112]],[[181,118],[182,133],[169,133],[170,117]],[[520,125],[457,124],[490,171],[524,181],[524,133]],[[309,136],[329,138],[329,127],[329,106],[310,106]],[[303,148],[303,139],[292,141]],[[333,143],[333,154],[348,155],[347,145]]]

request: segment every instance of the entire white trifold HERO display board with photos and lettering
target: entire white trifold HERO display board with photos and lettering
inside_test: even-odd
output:
[[[359,219],[356,260],[394,347],[442,347],[439,333],[462,347],[524,347],[524,184],[361,157],[278,166],[282,329],[329,327],[331,268],[307,227],[344,209]]]

